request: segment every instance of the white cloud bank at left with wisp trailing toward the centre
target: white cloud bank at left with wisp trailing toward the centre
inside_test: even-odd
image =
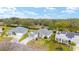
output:
[[[28,11],[28,10],[17,10],[16,7],[0,7],[0,18],[7,18],[7,17],[27,17],[28,15],[36,16],[38,15],[36,12]]]

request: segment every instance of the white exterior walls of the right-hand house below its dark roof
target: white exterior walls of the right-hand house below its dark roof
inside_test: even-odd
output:
[[[65,36],[65,34],[56,34],[55,36],[56,40],[60,42],[60,39],[61,39],[61,43],[65,43],[65,44],[68,44],[67,41],[72,41],[72,42],[75,42],[76,45],[79,46],[79,36],[75,36],[74,38],[67,38]]]

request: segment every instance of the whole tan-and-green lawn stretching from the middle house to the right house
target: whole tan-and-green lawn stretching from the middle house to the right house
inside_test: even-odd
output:
[[[52,39],[38,39],[32,40],[27,43],[28,46],[34,49],[40,50],[48,50],[48,51],[72,51],[72,48],[68,47],[68,45],[59,43],[54,40],[54,36]]]

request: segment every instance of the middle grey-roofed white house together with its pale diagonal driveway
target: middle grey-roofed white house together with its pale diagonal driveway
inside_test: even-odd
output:
[[[36,39],[36,38],[39,38],[39,37],[40,38],[44,38],[44,37],[50,38],[51,35],[52,35],[51,30],[39,29],[39,30],[30,32],[29,36],[26,39],[24,39],[23,41],[21,41],[20,43],[26,45],[29,41],[31,41],[33,39]]]

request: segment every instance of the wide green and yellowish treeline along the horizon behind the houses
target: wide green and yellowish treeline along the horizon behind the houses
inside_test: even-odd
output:
[[[79,31],[79,19],[32,19],[32,18],[6,18],[0,19],[7,26],[47,27],[51,30]]]

